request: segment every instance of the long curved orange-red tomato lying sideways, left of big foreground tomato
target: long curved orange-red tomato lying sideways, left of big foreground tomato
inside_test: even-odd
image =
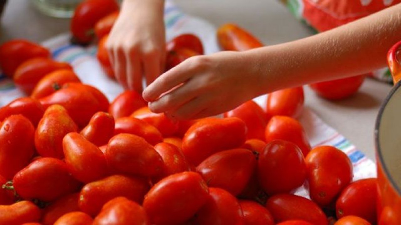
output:
[[[126,197],[137,203],[142,203],[149,183],[140,177],[112,175],[99,181],[86,184],[79,194],[78,206],[84,213],[97,215],[103,205],[115,198]]]

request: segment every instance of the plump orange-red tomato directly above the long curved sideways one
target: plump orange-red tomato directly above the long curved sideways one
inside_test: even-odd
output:
[[[162,157],[142,137],[119,134],[112,137],[107,145],[106,159],[119,173],[152,177],[162,173]]]

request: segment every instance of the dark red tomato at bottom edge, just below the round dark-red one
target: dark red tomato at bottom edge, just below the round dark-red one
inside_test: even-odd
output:
[[[314,225],[327,225],[324,212],[313,201],[291,194],[277,194],[267,199],[266,208],[276,223],[300,219]]]

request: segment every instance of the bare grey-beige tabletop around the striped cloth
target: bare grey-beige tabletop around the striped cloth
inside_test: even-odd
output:
[[[67,32],[69,19],[51,18],[36,11],[30,0],[9,0],[0,26],[0,43],[11,38],[41,42]],[[273,0],[175,0],[185,12],[219,26],[234,22],[265,44],[278,44],[311,35],[288,10]],[[367,79],[354,96],[331,102],[305,88],[305,104],[374,160],[373,131],[377,112],[391,86]]]

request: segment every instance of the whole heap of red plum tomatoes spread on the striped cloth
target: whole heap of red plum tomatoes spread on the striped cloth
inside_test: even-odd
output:
[[[73,18],[72,34],[88,43],[95,29],[113,77],[103,44],[118,5],[94,2],[76,14],[91,6],[83,12],[97,19],[81,15],[78,29]],[[227,50],[261,45],[233,24],[218,36]],[[184,34],[167,51],[169,69],[203,46]],[[302,87],[270,93],[265,110],[251,100],[223,117],[172,121],[133,90],[109,102],[50,56],[27,40],[0,46],[2,71],[27,95],[0,108],[0,225],[376,224],[377,179],[353,181],[346,154],[311,148],[297,120]],[[300,187],[310,198],[294,195]]]

